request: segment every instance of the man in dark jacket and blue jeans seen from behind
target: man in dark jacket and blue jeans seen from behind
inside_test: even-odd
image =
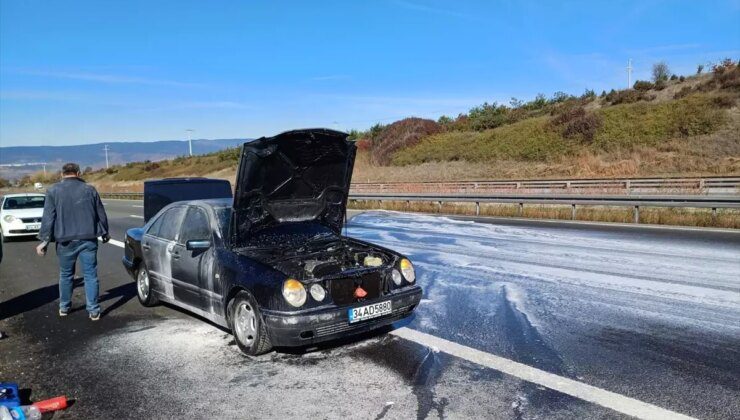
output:
[[[56,242],[59,257],[59,316],[72,306],[75,263],[79,258],[85,275],[85,298],[90,319],[100,319],[98,304],[98,237],[108,242],[108,216],[95,188],[80,178],[80,166],[68,163],[62,180],[46,192],[36,253],[46,255],[49,242]]]

